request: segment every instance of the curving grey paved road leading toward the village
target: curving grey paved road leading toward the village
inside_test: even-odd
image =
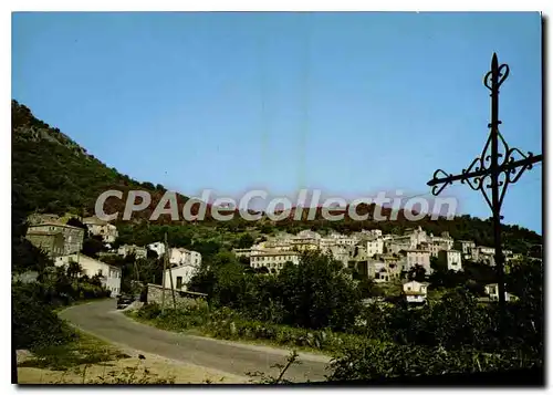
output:
[[[239,376],[255,371],[274,376],[278,370],[271,368],[271,365],[285,363],[290,353],[281,349],[161,331],[135,322],[115,308],[115,300],[107,300],[75,305],[62,311],[60,315],[73,325],[106,341]],[[285,378],[294,382],[316,382],[324,381],[324,376],[330,373],[326,370],[328,357],[301,353],[300,361],[302,364],[291,366]]]

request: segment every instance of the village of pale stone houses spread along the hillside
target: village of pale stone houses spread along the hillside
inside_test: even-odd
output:
[[[161,289],[187,291],[192,277],[201,267],[200,252],[186,248],[168,248],[164,241],[147,246],[122,245],[112,248],[118,237],[115,225],[100,220],[96,217],[82,218],[86,227],[67,225],[66,218],[54,215],[33,215],[29,219],[27,239],[43,250],[56,267],[66,267],[71,262],[80,266],[80,276],[97,276],[102,284],[111,291],[112,298],[121,295],[122,269],[104,262],[105,257],[133,254],[135,259],[145,259],[148,251],[155,251],[159,258],[167,258]],[[88,236],[101,237],[107,251],[97,258],[82,253],[85,232]],[[262,241],[261,241],[262,240]],[[383,233],[379,229],[362,230],[352,235],[330,232],[322,236],[312,230],[303,230],[296,235],[279,232],[273,236],[262,236],[250,248],[232,249],[242,262],[258,273],[279,273],[286,262],[299,264],[302,253],[319,251],[331,256],[343,263],[345,268],[355,271],[358,278],[371,279],[377,284],[400,282],[401,295],[408,303],[425,303],[429,283],[408,279],[407,273],[415,269],[422,270],[428,278],[434,271],[432,262],[441,264],[448,271],[462,271],[463,262],[479,262],[494,267],[494,249],[477,246],[472,240],[455,240],[448,232],[439,236],[427,233],[421,227],[407,229],[403,235]],[[521,261],[521,253],[503,250],[505,270]],[[167,254],[167,256],[166,256]],[[422,268],[422,269],[420,269]],[[36,273],[19,274],[20,278],[33,279]],[[420,280],[420,279],[419,279]],[[489,301],[499,299],[498,284],[484,287]],[[331,290],[328,290],[332,292]],[[509,301],[514,297],[505,292]]]

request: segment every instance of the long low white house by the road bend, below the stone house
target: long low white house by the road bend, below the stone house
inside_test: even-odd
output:
[[[90,278],[98,276],[102,285],[112,291],[112,298],[121,293],[121,268],[107,264],[82,253],[58,257],[54,260],[56,267],[69,267],[71,262],[76,262],[81,266],[82,271],[79,276],[87,276]]]

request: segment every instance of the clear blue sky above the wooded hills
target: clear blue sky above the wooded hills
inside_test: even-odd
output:
[[[542,152],[538,13],[14,13],[12,97],[185,195],[428,193],[481,152],[495,51],[511,146]],[[504,221],[542,231],[542,166]],[[489,217],[468,186],[459,210]]]

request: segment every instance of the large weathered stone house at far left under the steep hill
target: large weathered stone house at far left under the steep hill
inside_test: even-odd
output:
[[[29,226],[25,238],[50,257],[66,256],[82,250],[84,229],[61,222],[42,222]]]

